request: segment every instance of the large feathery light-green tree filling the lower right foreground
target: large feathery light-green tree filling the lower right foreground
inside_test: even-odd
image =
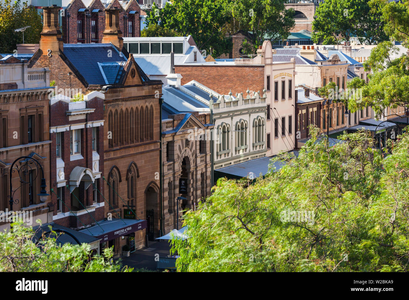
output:
[[[333,147],[310,131],[280,170],[220,179],[184,215],[178,271],[408,271],[409,136],[382,159],[366,131]]]

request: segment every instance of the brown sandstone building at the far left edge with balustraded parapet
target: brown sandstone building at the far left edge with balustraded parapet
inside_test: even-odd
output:
[[[24,214],[29,225],[36,225],[37,219],[43,223],[52,221],[50,197],[43,202],[37,195],[42,189],[42,178],[45,178],[47,192],[50,188],[50,71],[43,67],[28,69],[27,60],[31,55],[25,56],[0,56],[1,231],[10,229],[10,222],[6,218],[10,216],[11,210]],[[29,156],[38,161],[39,165],[31,159],[19,159],[21,156]],[[15,160],[16,163],[11,166]],[[13,191],[10,191],[10,177]],[[13,196],[12,207],[9,196]]]

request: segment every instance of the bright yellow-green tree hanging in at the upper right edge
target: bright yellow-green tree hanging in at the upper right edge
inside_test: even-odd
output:
[[[405,47],[409,44],[409,3],[373,0],[370,5],[382,13],[384,31],[392,41],[378,44],[364,62],[365,71],[373,74],[369,74],[368,84],[362,85],[363,101],[357,107],[371,106],[379,118],[387,107],[395,109],[409,104],[409,58],[407,54],[391,58],[398,53],[393,41],[401,41]]]

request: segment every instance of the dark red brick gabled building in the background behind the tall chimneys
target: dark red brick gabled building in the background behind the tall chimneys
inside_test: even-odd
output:
[[[141,8],[136,0],[71,0],[63,1],[63,41],[67,44],[101,43],[105,30],[104,9],[119,9],[119,30],[124,37],[140,36]]]

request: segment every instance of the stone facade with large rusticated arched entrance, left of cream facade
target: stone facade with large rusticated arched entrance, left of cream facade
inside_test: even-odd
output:
[[[179,113],[162,107],[162,172],[165,233],[182,228],[185,208],[195,209],[210,195],[209,113]],[[185,199],[179,198],[183,197]]]

